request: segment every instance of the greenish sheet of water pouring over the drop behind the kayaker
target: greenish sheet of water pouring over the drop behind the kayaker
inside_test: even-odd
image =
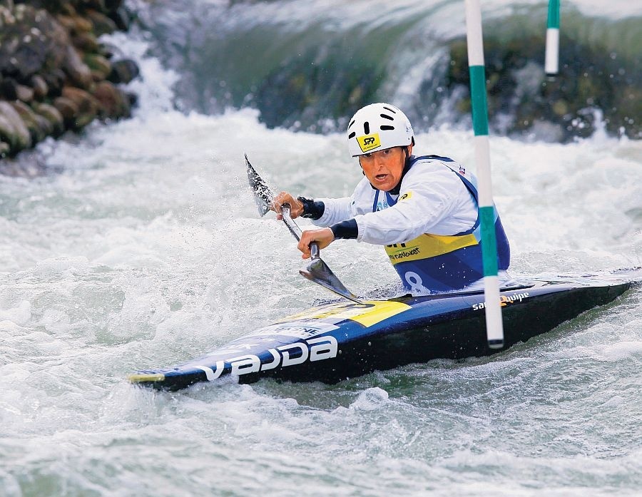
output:
[[[616,2],[618,4],[618,2]],[[621,3],[620,3],[621,4]],[[420,130],[469,125],[462,1],[156,0],[133,4],[153,54],[180,74],[179,108],[252,107],[270,127],[342,129],[392,101]],[[564,4],[561,74],[544,76],[546,3],[484,5],[495,133],[641,138],[642,9]]]

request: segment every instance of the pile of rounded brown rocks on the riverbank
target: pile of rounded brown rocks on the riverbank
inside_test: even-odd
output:
[[[0,165],[48,136],[130,116],[136,96],[119,85],[136,78],[138,66],[98,40],[128,29],[122,3],[0,4]]]

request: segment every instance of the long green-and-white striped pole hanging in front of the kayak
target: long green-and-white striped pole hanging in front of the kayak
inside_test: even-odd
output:
[[[499,280],[497,278],[497,240],[490,171],[488,140],[488,106],[486,104],[486,71],[484,43],[481,36],[479,0],[466,0],[466,40],[470,71],[475,165],[479,181],[479,217],[481,218],[481,255],[484,260],[484,299],[486,306],[486,339],[492,349],[504,347],[504,324],[501,321]]]

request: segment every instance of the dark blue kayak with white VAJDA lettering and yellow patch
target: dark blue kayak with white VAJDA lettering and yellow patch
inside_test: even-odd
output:
[[[613,302],[642,282],[642,270],[531,281],[501,290],[505,348]],[[133,384],[178,390],[231,377],[336,383],[404,364],[500,352],[486,341],[484,292],[331,302],[285,317],[203,357],[128,376]]]

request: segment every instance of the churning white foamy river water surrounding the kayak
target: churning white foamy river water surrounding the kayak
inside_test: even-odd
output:
[[[42,144],[49,175],[0,177],[1,496],[639,495],[639,287],[491,358],[336,385],[128,384],[330,297],[258,217],[243,153],[302,195],[360,179],[340,134],[173,110],[177,76],[143,38],[115,38],[141,61],[136,116]],[[472,167],[467,130],[417,143]],[[641,265],[640,141],[492,137],[491,156],[514,276]],[[396,281],[380,247],[324,259],[357,294]]]

